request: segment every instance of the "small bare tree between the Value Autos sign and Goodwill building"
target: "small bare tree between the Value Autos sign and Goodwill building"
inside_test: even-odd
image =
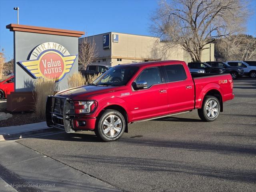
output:
[[[96,50],[94,39],[89,40],[88,37],[82,38],[78,48],[78,63],[86,68],[97,56],[98,50]]]

